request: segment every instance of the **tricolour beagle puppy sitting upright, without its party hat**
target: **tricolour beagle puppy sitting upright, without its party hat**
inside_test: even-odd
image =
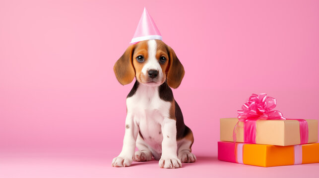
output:
[[[160,40],[130,45],[115,63],[114,72],[122,85],[136,78],[128,93],[125,135],[113,167],[132,161],[159,160],[160,168],[180,168],[181,162],[195,162],[194,141],[184,124],[182,111],[172,89],[180,86],[185,71],[174,50]],[[135,146],[138,151],[135,151]]]

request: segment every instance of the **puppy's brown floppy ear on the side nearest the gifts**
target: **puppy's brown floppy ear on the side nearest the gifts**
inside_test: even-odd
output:
[[[176,89],[180,86],[182,79],[184,77],[185,71],[182,63],[177,58],[174,50],[167,46],[168,52],[169,52],[169,69],[167,73],[167,84],[172,87],[173,89]]]

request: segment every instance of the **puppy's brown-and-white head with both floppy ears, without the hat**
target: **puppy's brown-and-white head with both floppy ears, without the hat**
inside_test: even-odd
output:
[[[115,76],[122,85],[136,80],[146,86],[167,84],[176,89],[185,71],[174,50],[160,40],[147,40],[128,49],[114,65]]]

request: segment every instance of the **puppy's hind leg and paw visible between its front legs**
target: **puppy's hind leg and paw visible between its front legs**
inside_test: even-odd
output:
[[[152,153],[148,149],[147,144],[143,138],[138,134],[136,139],[136,147],[138,151],[135,151],[134,161],[150,161],[152,160]]]

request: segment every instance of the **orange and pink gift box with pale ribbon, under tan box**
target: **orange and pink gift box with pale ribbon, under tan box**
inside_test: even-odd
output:
[[[219,141],[218,160],[261,167],[319,163],[319,143],[275,146]]]

